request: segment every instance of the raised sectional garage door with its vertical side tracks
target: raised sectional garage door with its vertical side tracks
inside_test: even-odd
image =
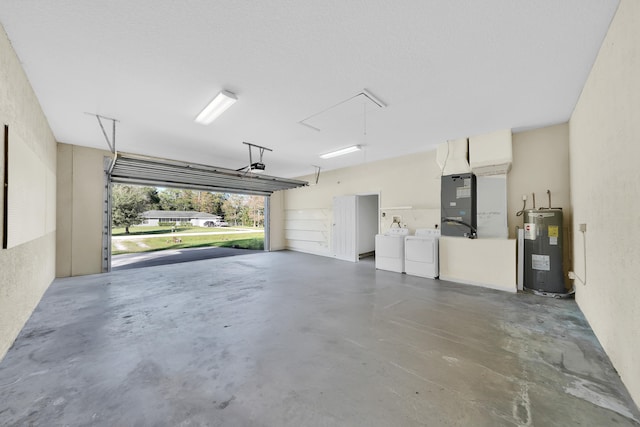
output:
[[[130,184],[265,196],[265,248],[268,248],[269,196],[274,191],[308,185],[306,181],[278,178],[253,172],[116,153],[105,159],[105,217],[103,271],[111,270],[111,184]]]

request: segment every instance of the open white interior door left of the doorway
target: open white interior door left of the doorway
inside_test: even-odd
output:
[[[357,198],[333,198],[333,256],[344,261],[358,261]]]

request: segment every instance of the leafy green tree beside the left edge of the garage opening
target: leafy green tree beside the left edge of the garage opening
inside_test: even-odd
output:
[[[148,194],[143,187],[114,185],[111,193],[113,226],[124,227],[125,233],[129,234],[129,227],[142,221],[141,214],[147,210]]]

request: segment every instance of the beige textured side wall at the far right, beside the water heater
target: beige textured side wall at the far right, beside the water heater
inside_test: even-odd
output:
[[[583,279],[588,273],[586,285],[576,281],[576,299],[640,403],[639,1],[620,3],[570,134],[575,272]]]

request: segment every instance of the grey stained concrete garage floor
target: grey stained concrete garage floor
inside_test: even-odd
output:
[[[56,280],[0,363],[9,426],[639,419],[574,301],[291,252]]]

